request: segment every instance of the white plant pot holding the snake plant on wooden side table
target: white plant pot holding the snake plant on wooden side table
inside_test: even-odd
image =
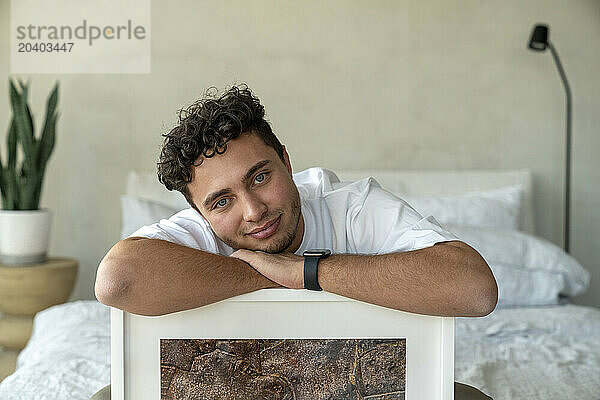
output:
[[[46,261],[52,213],[40,210],[0,210],[0,262],[27,265]]]

